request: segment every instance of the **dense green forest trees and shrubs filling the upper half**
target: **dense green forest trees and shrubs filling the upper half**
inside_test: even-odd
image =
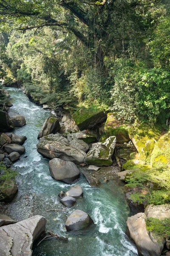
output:
[[[97,100],[155,123],[170,112],[169,11],[164,0],[0,1],[0,76],[54,109]]]

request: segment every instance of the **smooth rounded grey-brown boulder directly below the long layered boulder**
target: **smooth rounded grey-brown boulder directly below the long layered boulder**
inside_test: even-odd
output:
[[[71,184],[79,178],[79,169],[69,161],[63,161],[59,158],[53,158],[49,161],[49,169],[51,176],[55,180],[60,180]]]

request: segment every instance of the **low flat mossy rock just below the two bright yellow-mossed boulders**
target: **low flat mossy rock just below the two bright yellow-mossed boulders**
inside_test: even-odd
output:
[[[141,160],[128,160],[126,163],[122,165],[122,169],[125,170],[137,170],[140,169],[141,171],[147,171],[151,169],[152,166],[144,164],[144,161]]]

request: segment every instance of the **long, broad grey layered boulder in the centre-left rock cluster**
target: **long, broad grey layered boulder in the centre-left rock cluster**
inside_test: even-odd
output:
[[[42,137],[40,143],[37,144],[37,151],[49,159],[57,157],[74,163],[83,163],[85,158],[85,152],[71,147],[69,141],[61,134]]]

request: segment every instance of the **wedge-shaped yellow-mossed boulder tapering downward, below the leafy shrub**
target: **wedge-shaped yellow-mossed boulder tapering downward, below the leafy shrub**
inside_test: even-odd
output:
[[[153,148],[160,137],[161,132],[156,128],[131,128],[129,131],[130,139],[139,152],[139,160],[146,163],[150,162],[150,155]]]

